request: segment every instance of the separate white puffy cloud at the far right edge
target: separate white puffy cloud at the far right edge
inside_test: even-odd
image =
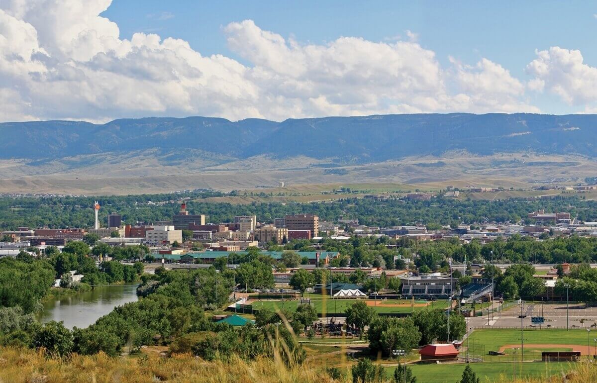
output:
[[[552,92],[570,105],[594,110],[587,104],[597,101],[597,67],[583,63],[578,50],[551,47],[536,54],[527,66],[527,72],[534,76],[529,82],[532,89]]]

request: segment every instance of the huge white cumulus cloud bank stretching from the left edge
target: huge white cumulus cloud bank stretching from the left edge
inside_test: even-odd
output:
[[[121,39],[99,16],[110,4],[0,0],[0,120],[537,111],[499,64],[442,68],[410,31],[406,41],[301,44],[251,20],[230,23],[223,33],[245,65],[181,39]]]

